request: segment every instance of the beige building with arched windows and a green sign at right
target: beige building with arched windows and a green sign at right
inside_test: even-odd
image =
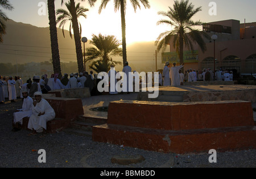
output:
[[[238,20],[223,20],[203,25],[203,31],[215,41],[215,69],[237,70],[237,73],[256,73],[256,23],[240,24]],[[203,53],[197,44],[194,53],[184,49],[184,69],[203,70],[214,68],[214,42],[205,38],[207,51]],[[172,44],[172,42],[170,42]],[[176,49],[170,45],[170,53],[162,54],[162,63],[179,63]]]

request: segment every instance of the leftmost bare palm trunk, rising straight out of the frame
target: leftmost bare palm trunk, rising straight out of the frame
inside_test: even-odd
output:
[[[51,36],[51,49],[52,49],[52,65],[54,73],[58,73],[61,76],[60,68],[60,54],[59,44],[56,28],[56,16],[55,16],[55,4],[54,0],[48,0],[48,15],[49,15],[49,30]]]

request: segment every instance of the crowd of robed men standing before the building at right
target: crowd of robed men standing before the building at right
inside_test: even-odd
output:
[[[176,66],[166,62],[163,69],[163,86],[181,86],[183,82],[196,82],[196,81],[233,81],[233,71],[217,69],[213,72],[210,69],[203,69],[203,71],[186,70],[185,74],[181,73],[184,63]],[[159,78],[160,80],[160,78]]]

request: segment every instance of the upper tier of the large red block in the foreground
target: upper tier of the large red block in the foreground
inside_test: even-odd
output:
[[[114,101],[109,104],[108,123],[163,130],[254,125],[253,109],[247,101]]]

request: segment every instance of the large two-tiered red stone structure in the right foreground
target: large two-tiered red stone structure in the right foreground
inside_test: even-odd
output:
[[[214,148],[256,148],[251,103],[114,101],[108,122],[93,126],[92,139],[143,150],[188,154]]]

